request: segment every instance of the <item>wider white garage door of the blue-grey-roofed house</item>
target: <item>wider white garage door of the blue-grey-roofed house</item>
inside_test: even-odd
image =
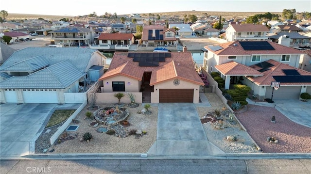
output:
[[[25,103],[58,103],[56,91],[23,91]]]

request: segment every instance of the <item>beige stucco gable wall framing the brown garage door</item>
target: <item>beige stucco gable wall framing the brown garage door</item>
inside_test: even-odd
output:
[[[199,103],[200,85],[179,79],[180,84],[175,86],[173,80],[155,85],[154,93],[151,95],[151,103],[159,103],[159,89],[194,89],[193,103]]]

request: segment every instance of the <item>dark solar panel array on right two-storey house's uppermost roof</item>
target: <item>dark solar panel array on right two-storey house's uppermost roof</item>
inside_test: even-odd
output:
[[[267,41],[240,41],[244,50],[274,50],[275,48]]]

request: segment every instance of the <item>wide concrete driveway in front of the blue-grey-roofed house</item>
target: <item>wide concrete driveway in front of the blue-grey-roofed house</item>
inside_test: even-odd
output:
[[[35,152],[35,140],[56,109],[77,109],[80,104],[0,105],[0,157],[20,157]]]

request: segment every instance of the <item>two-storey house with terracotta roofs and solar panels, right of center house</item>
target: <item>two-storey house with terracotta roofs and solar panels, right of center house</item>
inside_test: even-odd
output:
[[[260,100],[271,98],[271,82],[280,82],[274,99],[299,99],[311,92],[311,73],[298,69],[304,53],[269,41],[233,41],[204,47],[203,68],[219,72],[225,89],[242,83]]]

